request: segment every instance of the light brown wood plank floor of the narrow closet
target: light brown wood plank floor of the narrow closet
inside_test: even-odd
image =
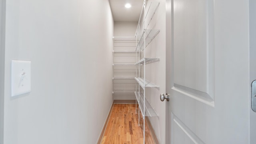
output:
[[[143,118],[138,126],[135,104],[114,104],[101,144],[143,144]],[[147,124],[145,144],[155,144]]]

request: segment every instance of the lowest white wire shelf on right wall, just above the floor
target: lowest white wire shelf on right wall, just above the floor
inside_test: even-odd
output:
[[[156,110],[153,108],[153,106],[150,104],[148,99],[145,97],[145,114],[144,114],[144,98],[140,96],[139,92],[135,92],[135,96],[137,101],[140,103],[140,112],[142,116],[159,116],[159,114],[156,112]],[[138,100],[139,99],[139,100]]]

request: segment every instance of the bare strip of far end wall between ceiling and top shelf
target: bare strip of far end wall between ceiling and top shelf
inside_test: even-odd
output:
[[[114,36],[135,36],[138,22],[114,22]]]

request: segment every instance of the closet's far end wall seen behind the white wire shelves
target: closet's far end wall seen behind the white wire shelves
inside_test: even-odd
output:
[[[114,40],[113,50],[134,51],[136,46],[135,32],[138,22],[114,22],[114,36],[123,37],[123,40]],[[133,37],[134,40],[132,41]],[[119,38],[122,39],[122,38]],[[134,63],[136,62],[135,53],[113,53],[113,63]],[[135,77],[135,66],[114,66],[114,77]],[[119,69],[119,70],[118,70]],[[123,69],[123,70],[122,70]],[[134,69],[134,70],[132,70]],[[127,73],[128,72],[128,73]],[[113,80],[113,91],[129,91],[128,93],[114,93],[114,100],[135,100],[135,80],[121,79]],[[132,91],[132,92],[131,92]]]

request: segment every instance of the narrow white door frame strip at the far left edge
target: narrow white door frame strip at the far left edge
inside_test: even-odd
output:
[[[0,0],[0,144],[4,143],[4,26],[5,0]]]

